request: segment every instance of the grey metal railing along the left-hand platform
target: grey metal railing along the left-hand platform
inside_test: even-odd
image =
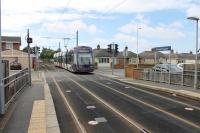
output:
[[[0,114],[6,112],[15,96],[28,84],[28,76],[28,69],[26,68],[2,80]]]

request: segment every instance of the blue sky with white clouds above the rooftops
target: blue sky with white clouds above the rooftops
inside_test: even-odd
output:
[[[3,36],[21,36],[27,29],[33,46],[71,49],[79,45],[129,51],[171,46],[175,52],[195,51],[200,0],[1,0]],[[65,39],[64,41],[64,38]],[[200,42],[200,37],[199,42]]]

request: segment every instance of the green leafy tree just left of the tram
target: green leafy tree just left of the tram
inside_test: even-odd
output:
[[[40,54],[40,59],[53,59],[53,55],[54,55],[55,51],[49,48],[43,48],[42,52]]]

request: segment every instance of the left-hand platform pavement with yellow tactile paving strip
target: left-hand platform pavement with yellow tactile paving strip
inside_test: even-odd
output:
[[[60,133],[54,103],[44,74],[32,73],[25,87],[0,121],[0,133]]]

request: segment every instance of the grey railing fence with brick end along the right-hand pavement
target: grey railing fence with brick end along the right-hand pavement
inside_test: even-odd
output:
[[[128,73],[128,72],[127,72]],[[182,73],[157,72],[152,70],[131,71],[131,77],[134,79],[148,80],[160,83],[170,83],[184,86],[194,86],[194,71],[185,70]],[[197,87],[200,88],[200,71],[197,72]],[[130,77],[130,72],[127,74]]]

